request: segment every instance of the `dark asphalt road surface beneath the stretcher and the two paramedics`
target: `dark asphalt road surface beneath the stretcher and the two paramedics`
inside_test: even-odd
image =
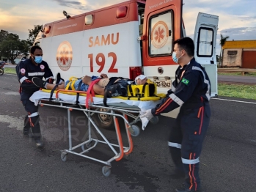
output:
[[[167,139],[174,119],[160,117],[158,125],[147,126],[133,138],[134,152],[130,158],[113,162],[111,175],[104,177],[101,163],[71,154],[66,162],[60,159],[60,150],[68,147],[65,109],[40,107],[43,151],[23,138],[26,112],[19,100],[17,78],[4,74],[0,83],[0,191],[165,192],[175,191],[183,182],[169,177],[173,163]],[[204,191],[255,191],[256,102],[244,101],[252,103],[211,100],[211,124],[200,157]],[[87,133],[87,119],[78,111],[71,114],[73,139],[79,143]],[[109,141],[116,141],[114,130],[103,133]],[[96,131],[92,135],[100,139]],[[114,156],[103,144],[89,155],[102,160]]]

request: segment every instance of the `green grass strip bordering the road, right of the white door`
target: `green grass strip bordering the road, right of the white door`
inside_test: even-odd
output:
[[[256,100],[256,85],[218,84],[218,95]]]

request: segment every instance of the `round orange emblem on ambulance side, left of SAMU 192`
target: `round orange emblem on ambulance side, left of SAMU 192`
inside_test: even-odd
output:
[[[73,60],[72,46],[68,41],[64,41],[59,45],[56,53],[56,61],[61,70],[69,70]]]

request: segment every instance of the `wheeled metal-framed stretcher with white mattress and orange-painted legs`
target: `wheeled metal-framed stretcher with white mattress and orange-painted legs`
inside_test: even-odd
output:
[[[164,95],[158,95],[158,97],[164,97]],[[87,99],[89,98],[89,100]],[[30,97],[30,100],[34,102],[35,105],[40,106],[52,106],[57,108],[67,109],[67,120],[68,120],[68,138],[69,138],[69,148],[62,150],[61,159],[62,161],[67,160],[67,154],[71,153],[73,155],[79,155],[83,158],[88,158],[90,160],[95,160],[99,163],[103,163],[102,173],[105,177],[108,177],[111,173],[111,162],[113,160],[121,160],[125,156],[128,156],[133,151],[133,141],[131,136],[139,136],[140,128],[135,125],[136,122],[140,121],[139,113],[140,111],[145,111],[147,109],[155,107],[161,100],[128,100],[121,99],[118,97],[107,98],[108,106],[103,105],[103,97],[92,95],[87,96],[87,92],[81,91],[70,91],[70,90],[57,90],[52,92],[51,90],[39,90],[34,92]],[[51,101],[51,102],[49,102]],[[87,101],[87,102],[86,102]],[[56,105],[57,104],[57,105]],[[106,111],[100,111],[101,108],[106,109]],[[81,142],[73,146],[72,135],[71,135],[71,122],[70,113],[73,110],[83,111],[88,120],[88,139],[87,141]],[[106,136],[100,131],[100,128],[95,124],[92,116],[95,114],[105,114],[110,115],[114,118],[114,128],[117,133],[117,143],[113,144],[106,139]],[[125,138],[128,140],[128,147],[123,146],[122,136],[120,132],[120,125],[117,117],[120,117],[125,123]],[[133,122],[128,122],[128,117],[134,119]],[[153,118],[150,122],[156,124],[158,122],[158,117]],[[145,125],[143,125],[143,123]],[[92,126],[93,125],[93,126]],[[142,122],[142,127],[147,125],[147,122]],[[96,132],[100,134],[102,140],[92,138],[92,128],[95,128]],[[86,153],[95,148],[97,144],[106,144],[109,146],[114,156],[109,160],[100,160],[98,158],[92,158]],[[81,152],[75,152],[75,149],[81,147]]]

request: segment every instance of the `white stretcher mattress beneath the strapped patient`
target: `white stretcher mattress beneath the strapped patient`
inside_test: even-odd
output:
[[[34,103],[35,106],[39,103],[40,99],[49,99],[50,98],[50,92],[44,92],[42,90],[39,90],[37,92],[34,92],[34,94],[30,97],[30,100]],[[59,92],[59,99],[70,102],[70,103],[76,103],[76,95],[69,95],[69,94],[63,94]],[[56,98],[56,95],[54,94],[52,96],[53,99]],[[81,104],[85,104],[86,97],[85,96],[79,96],[78,101]],[[107,98],[106,103],[109,106],[116,106],[116,107],[129,107],[129,108],[139,108],[141,111],[146,111],[150,108],[155,108],[158,103],[161,103],[161,100],[122,100],[120,98]],[[94,105],[103,105],[103,97],[93,97],[93,104]]]

